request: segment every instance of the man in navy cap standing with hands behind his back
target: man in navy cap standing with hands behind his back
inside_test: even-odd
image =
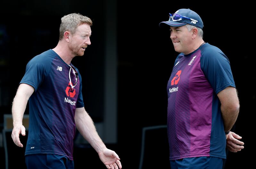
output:
[[[244,148],[242,137],[229,132],[240,106],[228,57],[204,42],[203,21],[190,9],[160,25],[170,26],[180,52],[167,85],[171,168],[222,168],[226,139],[230,151]]]

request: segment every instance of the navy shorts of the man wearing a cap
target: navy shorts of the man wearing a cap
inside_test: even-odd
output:
[[[192,157],[170,160],[172,169],[222,169],[223,158]]]

